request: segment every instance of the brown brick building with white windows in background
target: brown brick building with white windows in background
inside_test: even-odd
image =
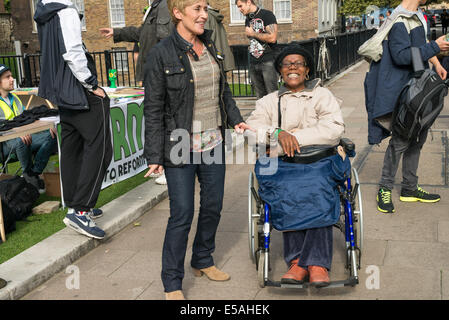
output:
[[[36,25],[32,20],[34,5],[38,0],[14,0],[11,2],[13,36],[21,41],[23,53],[39,51]],[[101,27],[138,26],[142,23],[142,10],[147,0],[72,0],[84,13],[83,39],[89,51],[106,49],[132,49],[133,44],[116,43],[102,38]],[[235,0],[210,0],[224,15],[231,45],[247,44],[242,37],[244,17],[234,4]],[[304,40],[337,29],[337,8],[340,0],[256,0],[263,8],[275,13],[279,23],[279,42]]]

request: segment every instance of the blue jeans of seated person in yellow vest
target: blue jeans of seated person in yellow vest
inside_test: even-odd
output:
[[[31,139],[29,146],[20,138],[3,142],[3,154],[6,158],[10,152],[15,153],[23,172],[41,174],[56,148],[57,139],[56,137],[53,139],[48,130],[32,134]],[[33,153],[35,153],[34,162]]]

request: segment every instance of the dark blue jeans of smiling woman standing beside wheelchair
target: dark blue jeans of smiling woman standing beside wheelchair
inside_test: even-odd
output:
[[[223,144],[209,151],[217,152],[218,148],[221,148],[223,155],[219,164],[205,164],[204,161],[195,164],[191,153],[190,164],[180,168],[165,168],[170,199],[170,218],[162,251],[161,278],[165,292],[182,290],[187,240],[194,214],[195,176],[198,177],[201,190],[191,266],[203,269],[214,265],[212,253],[223,206],[226,166]]]

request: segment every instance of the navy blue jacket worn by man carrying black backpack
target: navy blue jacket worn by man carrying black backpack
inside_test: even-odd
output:
[[[429,65],[428,60],[440,52],[435,41],[427,43],[424,27],[417,17],[409,25],[410,32],[402,21],[393,25],[388,38],[382,43],[382,59],[371,63],[365,77],[365,105],[370,144],[378,144],[390,135],[389,126],[381,123],[383,120],[388,123],[391,119],[399,94],[412,77],[410,48],[420,48],[426,67]]]

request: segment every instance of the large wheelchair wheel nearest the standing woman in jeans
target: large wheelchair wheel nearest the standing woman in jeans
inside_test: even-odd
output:
[[[257,208],[257,201],[254,197],[252,188],[257,192],[259,184],[254,173],[249,173],[248,181],[248,241],[249,241],[249,256],[253,263],[257,264],[256,252],[259,247],[259,233],[258,233],[258,219],[259,212]]]

